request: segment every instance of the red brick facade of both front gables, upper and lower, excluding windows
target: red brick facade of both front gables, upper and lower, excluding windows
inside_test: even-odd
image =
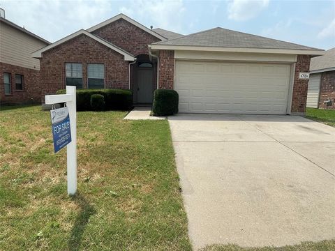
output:
[[[155,36],[122,19],[107,24],[92,34],[134,56],[149,54],[148,45],[159,41]],[[129,89],[128,70],[131,62],[124,61],[123,55],[96,40],[80,35],[43,52],[40,59],[42,96],[65,88],[65,63],[82,63],[83,89],[87,88],[87,63],[105,65],[105,88]]]

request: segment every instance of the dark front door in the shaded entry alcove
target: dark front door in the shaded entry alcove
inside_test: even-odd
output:
[[[140,69],[137,72],[137,102],[152,103],[154,86],[151,69]]]

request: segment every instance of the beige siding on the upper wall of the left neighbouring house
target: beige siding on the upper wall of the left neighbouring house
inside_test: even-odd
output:
[[[31,53],[46,45],[42,41],[18,31],[8,24],[0,23],[1,63],[39,70],[40,61],[32,58]]]

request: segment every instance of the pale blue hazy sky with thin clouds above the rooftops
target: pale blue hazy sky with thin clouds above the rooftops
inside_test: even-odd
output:
[[[124,13],[149,27],[190,34],[215,27],[329,50],[335,0],[0,0],[6,19],[55,42]]]

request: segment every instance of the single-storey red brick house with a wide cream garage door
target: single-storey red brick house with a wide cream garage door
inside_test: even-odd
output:
[[[323,50],[215,28],[183,36],[126,15],[77,31],[34,52],[45,94],[77,88],[131,89],[151,104],[175,89],[180,112],[304,114],[312,56]]]

